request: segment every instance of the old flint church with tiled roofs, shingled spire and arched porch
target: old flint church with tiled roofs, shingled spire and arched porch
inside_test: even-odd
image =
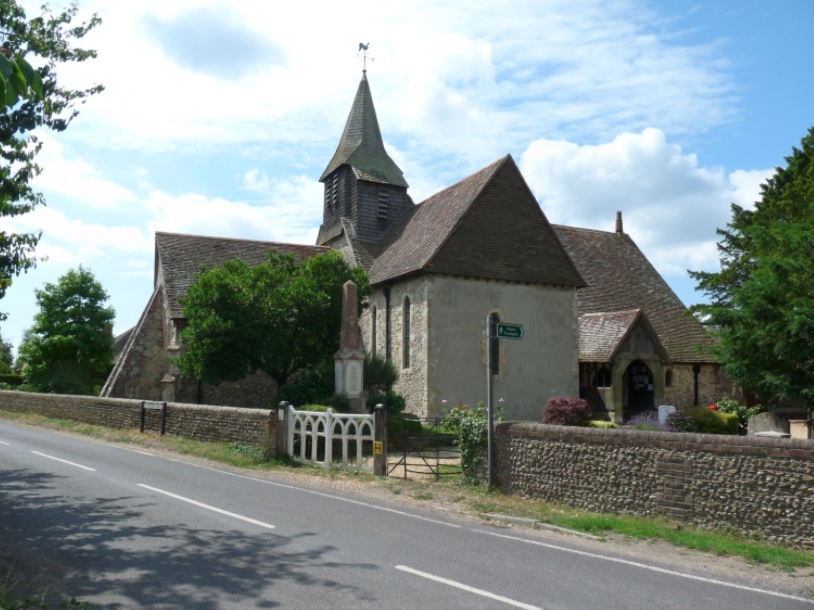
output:
[[[684,406],[727,393],[711,344],[632,239],[552,226],[511,156],[420,204],[384,148],[362,77],[333,158],[319,178],[317,244],[155,235],[154,292],[136,327],[117,342],[103,396],[269,406],[274,381],[256,373],[213,387],[179,374],[179,297],[199,265],[298,260],[333,248],[370,274],[360,316],[363,348],[394,362],[408,410],[440,415],[486,397],[492,375],[508,419],[540,420],[550,397],[583,396],[598,418],[622,421],[660,404]],[[522,324],[500,340],[488,367],[487,320]]]

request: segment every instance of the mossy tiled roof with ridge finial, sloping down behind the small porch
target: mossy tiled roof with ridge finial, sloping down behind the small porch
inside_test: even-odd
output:
[[[577,293],[579,314],[641,309],[673,362],[716,362],[698,345],[713,338],[650,265],[628,235],[554,225],[588,283]]]

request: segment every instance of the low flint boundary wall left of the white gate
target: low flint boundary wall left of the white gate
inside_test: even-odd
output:
[[[142,401],[0,390],[0,409],[109,428],[138,428]],[[160,428],[161,412],[147,410],[145,431],[160,432]],[[277,410],[168,402],[165,432],[197,441],[238,441],[276,451]]]

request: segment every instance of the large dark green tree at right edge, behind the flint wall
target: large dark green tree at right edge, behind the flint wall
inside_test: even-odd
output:
[[[761,186],[754,210],[732,206],[720,271],[690,272],[710,303],[694,312],[720,326],[713,352],[769,401],[814,405],[814,128]]]

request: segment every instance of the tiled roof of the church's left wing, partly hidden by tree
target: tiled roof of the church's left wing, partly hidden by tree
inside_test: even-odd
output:
[[[195,276],[198,274],[201,264],[212,267],[219,263],[240,259],[248,265],[258,265],[266,260],[269,250],[277,250],[281,254],[293,254],[295,260],[300,262],[319,252],[328,252],[330,248],[278,244],[252,239],[156,233],[155,250],[157,265],[160,265],[164,275],[164,291],[169,315],[172,318],[184,318],[184,307],[178,302],[178,299],[185,296],[187,289],[195,283]]]

